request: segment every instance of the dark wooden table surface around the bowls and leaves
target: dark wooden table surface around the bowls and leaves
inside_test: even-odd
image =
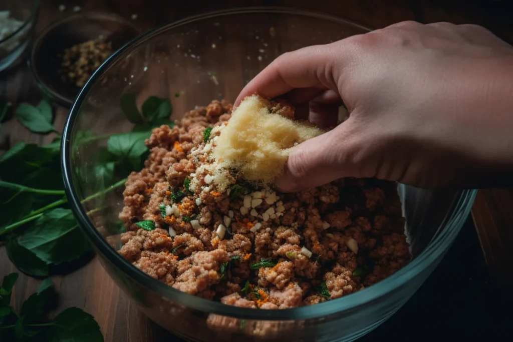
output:
[[[131,18],[132,14],[137,14],[137,18],[132,19],[133,23],[147,30],[156,25],[198,12],[241,6],[240,3],[237,1],[207,2],[190,0],[185,2],[165,0],[43,0],[37,31],[41,31],[56,19],[72,13],[74,6],[81,6],[83,11],[114,12],[126,18]],[[58,6],[61,4],[67,6],[65,12],[58,10]],[[456,24],[473,23],[483,25],[506,41],[513,42],[513,26],[510,25],[513,6],[509,1],[333,0],[311,2],[308,0],[255,0],[244,2],[244,6],[258,5],[290,6],[324,11],[348,17],[374,28],[404,20],[416,20],[422,23],[438,21],[448,21]],[[13,106],[16,106],[19,102],[35,103],[41,98],[25,61],[0,73],[0,97],[6,98]],[[62,127],[66,115],[67,109],[59,108],[57,110],[56,127]],[[15,120],[10,120],[2,125],[0,149],[5,150],[22,140],[30,143],[46,143],[50,138],[48,136],[43,138],[41,135],[30,133]],[[449,253],[452,253],[453,256],[450,258],[448,255],[446,259],[450,258],[449,261],[442,261],[442,265],[426,283],[429,283],[429,281],[438,283],[439,278],[457,284],[460,281],[461,287],[464,289],[480,292],[475,294],[474,300],[481,298],[482,301],[486,301],[484,298],[491,294],[494,296],[500,294],[503,301],[511,299],[510,288],[513,285],[513,253],[511,252],[513,246],[513,190],[490,189],[479,191],[472,209],[472,218],[473,225],[469,220],[467,226],[470,228],[464,228],[466,231],[462,233],[456,243],[458,247],[453,247],[454,251]],[[477,235],[472,230],[473,226],[475,226]],[[471,248],[472,243],[475,245],[473,249]],[[449,271],[453,267],[451,263],[456,262],[455,258],[457,260],[461,259],[462,263],[469,263],[463,273],[458,273],[460,278],[454,275],[456,272]],[[15,267],[10,264],[3,247],[0,247],[0,259],[2,260],[0,277],[16,271]],[[478,264],[480,265],[481,261],[482,268],[479,269]],[[469,287],[470,285],[463,284],[462,277],[467,277],[473,273],[479,273],[475,276],[482,279],[489,278],[491,284],[488,284],[487,280],[483,280],[483,284],[486,284],[486,286],[483,285],[479,288],[472,287],[474,285]],[[468,278],[471,279],[472,276],[468,276]],[[39,283],[39,280],[22,275],[15,287],[12,304],[19,309],[23,300],[37,290]],[[54,283],[60,293],[60,307],[77,306],[91,313],[100,325],[106,341],[144,340],[156,342],[179,340],[138,312],[129,298],[114,285],[96,258],[71,274],[55,276]],[[426,284],[424,287],[427,286]],[[396,316],[392,317],[391,321],[402,319],[400,318],[402,317],[401,312],[403,316],[409,316],[411,313],[415,314],[417,311],[425,310],[429,305],[432,307],[433,304],[429,304],[425,300],[424,304],[419,303],[422,301],[419,299],[420,297],[435,293],[433,290],[429,291],[416,295],[406,305],[408,308],[401,309]],[[464,297],[461,300],[463,303]],[[458,309],[455,310],[452,312],[459,315]],[[463,311],[464,309],[460,313],[463,314]],[[387,326],[389,328],[385,326],[383,326],[384,328],[380,327],[377,333],[369,336],[377,337],[380,335],[386,337],[392,335],[395,328],[391,324]],[[418,329],[426,328],[423,325],[417,327]],[[369,338],[365,339],[370,340]]]

